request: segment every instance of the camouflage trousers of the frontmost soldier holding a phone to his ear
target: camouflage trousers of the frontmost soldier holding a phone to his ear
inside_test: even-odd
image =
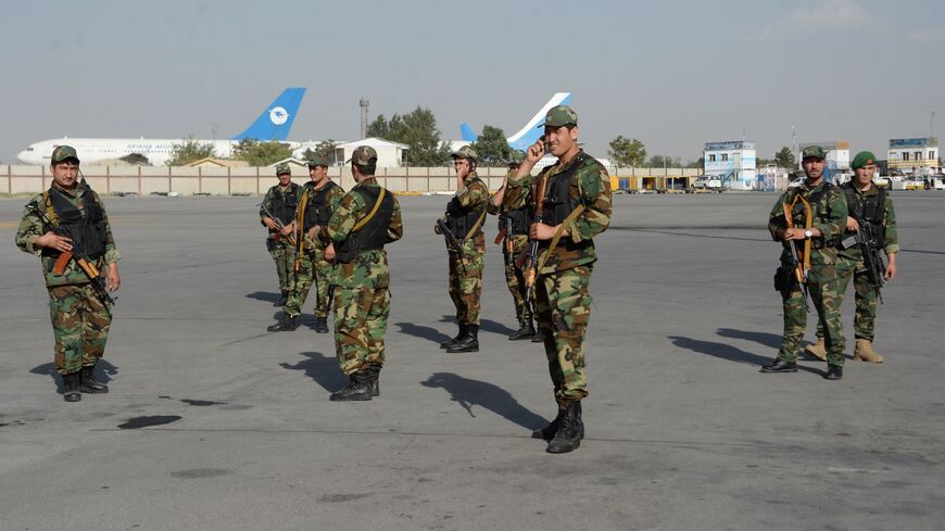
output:
[[[593,265],[541,275],[536,281],[534,313],[544,332],[544,352],[558,404],[588,395],[584,334],[591,318]]]

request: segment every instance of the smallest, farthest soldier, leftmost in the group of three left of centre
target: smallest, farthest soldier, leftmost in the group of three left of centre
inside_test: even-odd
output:
[[[276,166],[279,184],[269,188],[260,206],[260,222],[269,229],[266,249],[279,274],[279,300],[273,306],[285,306],[295,287],[295,205],[302,187],[292,182],[292,169],[287,163]],[[281,228],[280,228],[281,227]]]

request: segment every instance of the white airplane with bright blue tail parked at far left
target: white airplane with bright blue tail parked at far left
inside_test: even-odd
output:
[[[216,156],[225,157],[232,153],[232,148],[240,140],[252,138],[256,140],[286,140],[289,136],[289,129],[292,128],[292,122],[295,119],[295,114],[299,105],[302,103],[302,97],[305,96],[305,88],[293,87],[287,88],[279,94],[278,98],[268,105],[262,114],[253,122],[244,131],[231,137],[228,140],[193,140],[205,144],[213,144],[216,150]],[[173,155],[174,147],[180,144],[185,139],[150,139],[150,138],[59,138],[53,140],[43,140],[30,144],[25,150],[21,151],[16,159],[24,164],[49,164],[52,156],[52,150],[56,146],[68,144],[76,149],[83,164],[94,164],[101,161],[121,159],[134,153],[143,155],[148,162],[155,165],[164,165]]]

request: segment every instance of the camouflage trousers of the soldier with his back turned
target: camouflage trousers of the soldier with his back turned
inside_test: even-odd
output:
[[[345,375],[385,362],[390,289],[335,287],[335,351]]]

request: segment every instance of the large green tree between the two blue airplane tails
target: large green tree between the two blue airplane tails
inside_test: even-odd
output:
[[[367,136],[407,144],[405,157],[412,166],[443,166],[450,161],[450,147],[441,140],[437,118],[429,109],[417,106],[390,119],[379,114],[368,124]]]

